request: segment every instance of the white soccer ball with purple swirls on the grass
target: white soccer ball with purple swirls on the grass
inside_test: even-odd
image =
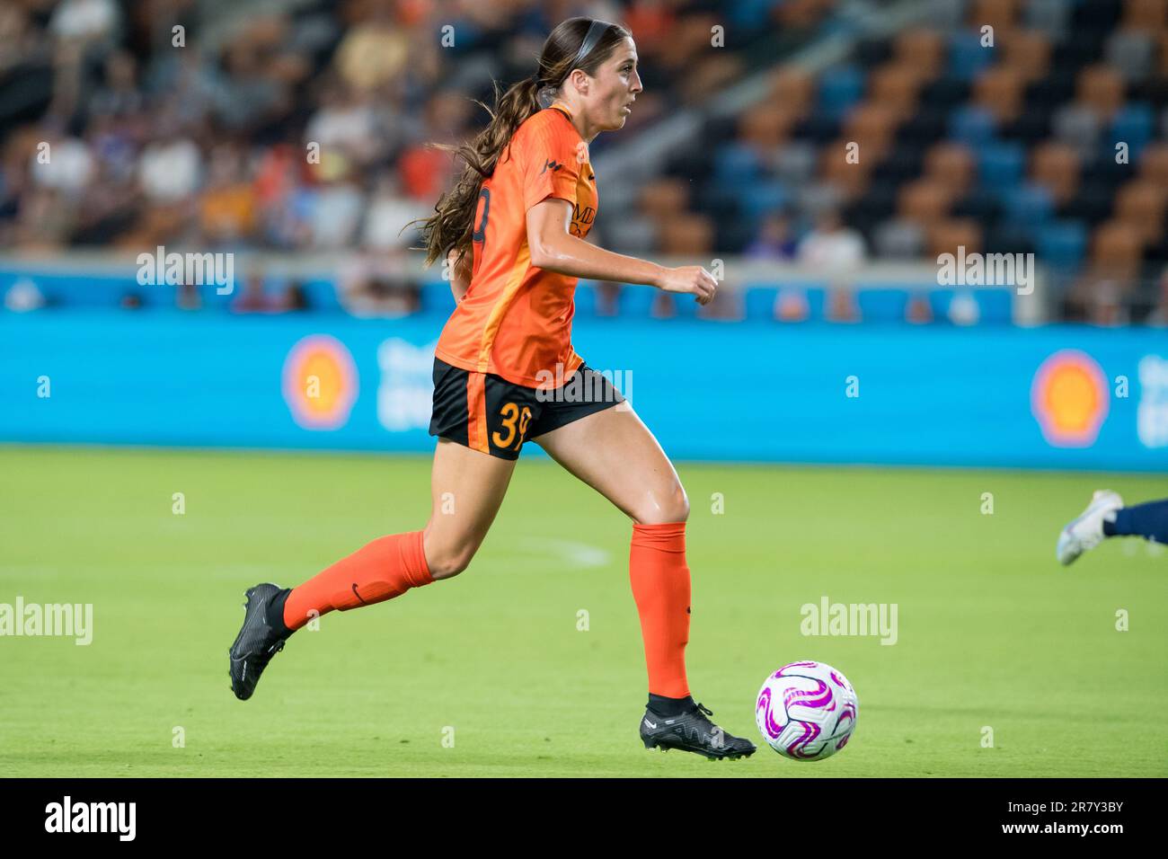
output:
[[[860,701],[848,678],[823,663],[788,663],[758,691],[755,721],[766,743],[792,761],[822,761],[848,744]]]

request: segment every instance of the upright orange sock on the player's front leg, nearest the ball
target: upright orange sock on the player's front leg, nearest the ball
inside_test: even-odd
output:
[[[689,642],[689,567],[686,524],[633,525],[628,579],[641,616],[649,693],[689,694],[686,644]]]

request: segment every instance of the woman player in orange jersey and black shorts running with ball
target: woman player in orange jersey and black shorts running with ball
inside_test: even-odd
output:
[[[645,747],[710,758],[755,751],[689,694],[686,491],[645,424],[571,345],[577,278],[648,284],[701,304],[717,286],[702,266],[667,269],[584,241],[597,212],[588,144],[623,127],[640,91],[628,30],[569,19],[544,42],[538,70],[496,97],[489,125],[458,148],[461,179],[423,226],[426,264],[445,256],[458,302],[434,353],[430,521],[374,540],[298,588],[249,589],[231,647],[238,698],[251,697],[269,659],[313,614],[370,605],[465,570],[520,449],[534,441],[633,520],[630,579],[648,664]]]

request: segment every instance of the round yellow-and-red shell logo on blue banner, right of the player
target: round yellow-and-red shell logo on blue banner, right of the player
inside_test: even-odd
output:
[[[1034,374],[1030,409],[1042,435],[1056,448],[1094,444],[1108,408],[1107,377],[1086,353],[1056,352]]]

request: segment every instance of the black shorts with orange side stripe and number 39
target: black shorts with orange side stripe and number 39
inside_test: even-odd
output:
[[[576,381],[576,375],[580,375]],[[430,435],[501,459],[519,459],[523,442],[625,402],[607,379],[582,363],[563,387],[537,390],[494,373],[434,359]]]

